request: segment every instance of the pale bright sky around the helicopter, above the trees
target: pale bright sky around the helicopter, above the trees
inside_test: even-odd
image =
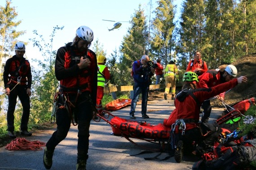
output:
[[[129,22],[122,22],[118,30],[108,31],[113,28],[115,22],[102,20],[130,21],[139,4],[145,10],[145,15],[150,14],[150,0],[12,0],[11,2],[11,7],[15,7],[18,13],[15,21],[22,21],[16,30],[26,31],[26,34],[18,37],[18,40],[28,43],[26,58],[30,63],[31,59],[42,57],[39,49],[33,47],[33,43],[29,40],[29,38],[39,40],[33,34],[33,30],[37,30],[38,34],[43,35],[46,43],[50,43],[53,27],[64,26],[63,30],[57,30],[53,37],[53,50],[57,50],[73,40],[79,26],[88,26],[94,33],[93,43],[98,39],[108,58],[115,49],[119,49],[131,25]],[[0,6],[5,4],[5,0],[0,0]],[[152,0],[151,12],[156,5],[156,0]],[[92,48],[93,46],[90,47]]]

